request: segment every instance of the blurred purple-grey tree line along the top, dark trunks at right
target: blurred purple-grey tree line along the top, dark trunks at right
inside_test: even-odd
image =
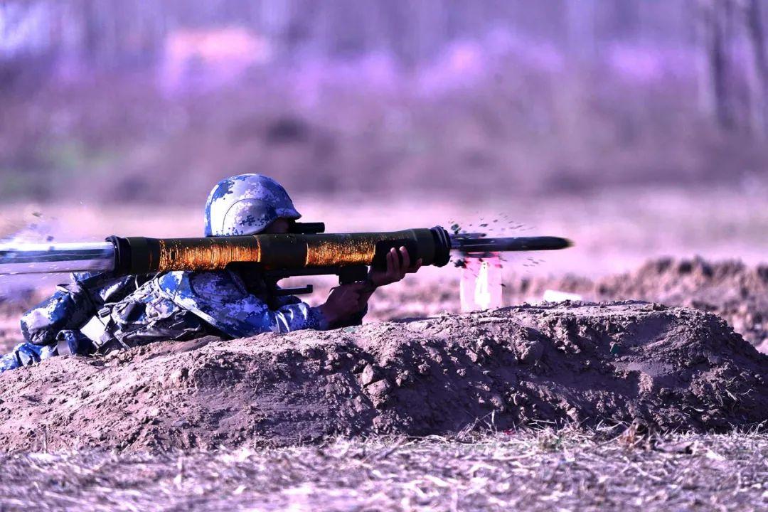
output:
[[[700,108],[718,126],[768,133],[763,0],[5,0],[5,85],[66,63],[134,69],[157,64],[179,28],[239,26],[269,41],[277,62],[386,51],[417,66],[449,41],[495,28],[548,41],[579,64],[613,41],[697,48]],[[36,66],[34,65],[36,63]],[[745,121],[746,120],[746,121]]]

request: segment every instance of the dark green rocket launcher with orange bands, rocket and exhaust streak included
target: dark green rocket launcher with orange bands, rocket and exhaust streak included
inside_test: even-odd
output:
[[[104,271],[118,275],[172,270],[221,270],[250,263],[267,279],[336,275],[339,282],[366,279],[369,266],[386,267],[386,253],[405,246],[411,260],[445,266],[451,253],[564,249],[568,239],[555,236],[486,238],[482,233],[449,234],[441,226],[384,233],[324,233],[323,223],[293,223],[291,233],[200,238],[110,236],[94,243],[0,243],[0,275]],[[312,286],[278,289],[307,293]]]

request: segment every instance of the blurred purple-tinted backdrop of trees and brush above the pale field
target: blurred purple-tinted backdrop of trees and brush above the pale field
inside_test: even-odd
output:
[[[765,193],[759,0],[0,6],[0,200]]]

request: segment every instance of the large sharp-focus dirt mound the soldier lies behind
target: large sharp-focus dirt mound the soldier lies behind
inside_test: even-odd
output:
[[[695,309],[519,306],[55,358],[0,375],[0,390],[7,451],[572,421],[720,431],[768,419],[768,357]]]

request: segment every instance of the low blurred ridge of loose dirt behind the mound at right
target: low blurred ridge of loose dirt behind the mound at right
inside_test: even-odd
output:
[[[513,280],[513,301],[541,297],[546,289],[579,293],[588,300],[640,299],[715,312],[753,345],[768,348],[768,265],[739,261],[650,260],[631,273],[596,281],[578,276]]]

